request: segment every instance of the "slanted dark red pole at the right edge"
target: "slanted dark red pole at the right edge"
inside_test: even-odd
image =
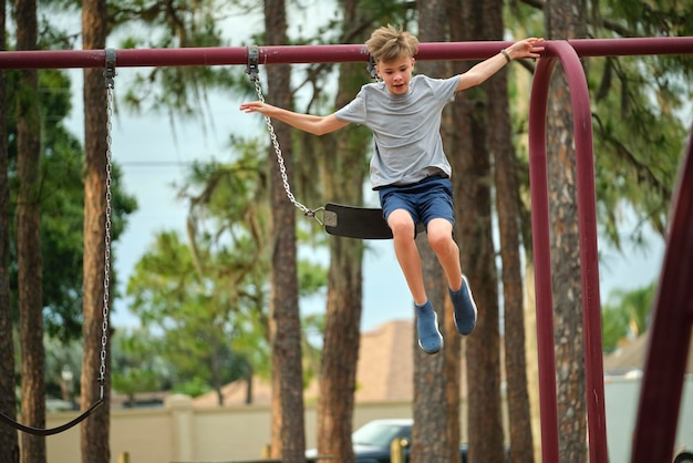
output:
[[[693,131],[675,189],[631,462],[671,462],[693,328]]]

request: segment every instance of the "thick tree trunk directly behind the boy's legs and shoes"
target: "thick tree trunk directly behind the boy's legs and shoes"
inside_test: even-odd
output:
[[[418,40],[444,42],[447,39],[445,0],[417,2]],[[420,72],[445,78],[449,69],[443,61],[416,63]],[[449,117],[443,117],[442,136],[452,132]],[[447,125],[447,126],[446,126]],[[449,154],[449,152],[447,153]],[[454,176],[453,176],[454,178]],[[428,300],[438,315],[445,348],[435,356],[424,353],[418,347],[414,330],[414,430],[412,461],[459,462],[459,357],[461,338],[454,328],[452,305],[447,296],[447,279],[428,246],[425,234],[416,238],[422,259],[424,285]]]

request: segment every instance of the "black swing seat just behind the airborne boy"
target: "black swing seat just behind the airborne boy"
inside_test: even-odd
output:
[[[354,207],[328,203],[324,206],[324,229],[330,235],[358,239],[392,239],[392,230],[377,207]],[[416,233],[425,232],[416,224]]]

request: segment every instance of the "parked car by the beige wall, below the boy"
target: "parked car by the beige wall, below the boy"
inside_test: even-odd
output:
[[[373,420],[365,423],[351,434],[356,463],[390,463],[390,446],[395,439],[402,440],[404,453],[408,462],[412,426],[410,419]],[[459,446],[462,463],[467,462],[467,445]],[[306,456],[314,457],[318,452],[309,450]]]

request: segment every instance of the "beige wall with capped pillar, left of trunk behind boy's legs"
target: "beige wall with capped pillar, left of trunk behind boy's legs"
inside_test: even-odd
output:
[[[270,441],[268,407],[194,409],[189,398],[174,395],[165,407],[111,412],[111,461],[123,452],[130,463],[170,463],[258,459]],[[46,426],[63,424],[74,413],[50,413]],[[360,404],[354,426],[377,418],[410,418],[410,402]],[[89,419],[85,421],[89,425]],[[316,407],[306,405],[307,447],[316,445]],[[80,428],[46,438],[50,463],[75,463],[80,456]]]

